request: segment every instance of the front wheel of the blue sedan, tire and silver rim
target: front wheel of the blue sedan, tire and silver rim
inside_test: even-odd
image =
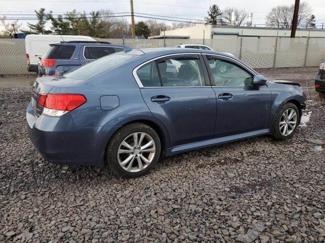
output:
[[[290,118],[291,112],[295,112],[292,118]],[[286,117],[288,117],[289,119],[287,119]],[[299,119],[299,110],[297,106],[290,102],[284,104],[278,112],[276,120],[273,124],[273,136],[279,140],[291,138],[298,127]],[[292,129],[292,127],[294,128]]]

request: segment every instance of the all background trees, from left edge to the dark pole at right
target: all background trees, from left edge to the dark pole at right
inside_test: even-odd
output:
[[[232,23],[232,13],[235,12],[236,21]],[[90,13],[66,12],[63,15],[54,15],[52,11],[46,12],[44,8],[35,10],[37,23],[27,24],[27,29],[21,28],[18,20],[7,22],[3,16],[1,23],[5,28],[5,34],[12,37],[13,33],[38,33],[38,34],[66,34],[66,35],[89,35],[100,38],[122,38],[131,35],[131,24],[125,17],[115,16],[111,10],[98,10]],[[281,5],[272,8],[266,15],[266,26],[277,28],[291,28],[294,13],[294,5]],[[221,10],[217,5],[211,5],[208,16],[202,23],[212,25],[236,25],[244,26],[247,19],[245,10],[229,7]],[[51,26],[46,28],[47,23]],[[158,22],[150,19],[139,21],[135,24],[135,33],[138,36],[159,35],[161,31],[189,27],[194,25],[192,21]],[[298,26],[301,28],[316,28],[315,16],[311,7],[302,2],[299,7]]]

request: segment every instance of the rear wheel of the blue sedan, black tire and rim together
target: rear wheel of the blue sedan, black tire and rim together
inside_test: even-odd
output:
[[[136,145],[135,140],[140,146]],[[141,148],[148,144],[149,146]],[[132,123],[120,128],[113,135],[106,148],[106,162],[120,176],[136,178],[154,168],[160,151],[158,134],[143,123]]]

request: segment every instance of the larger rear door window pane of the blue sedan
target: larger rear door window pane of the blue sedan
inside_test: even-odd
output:
[[[173,57],[157,61],[164,87],[205,86],[200,59],[192,57]]]

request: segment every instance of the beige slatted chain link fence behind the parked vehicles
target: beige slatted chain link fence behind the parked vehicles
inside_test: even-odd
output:
[[[253,68],[318,66],[325,61],[325,38],[218,36],[214,39],[102,39],[133,49],[204,44],[231,53]],[[27,74],[24,39],[0,39],[0,74]]]

